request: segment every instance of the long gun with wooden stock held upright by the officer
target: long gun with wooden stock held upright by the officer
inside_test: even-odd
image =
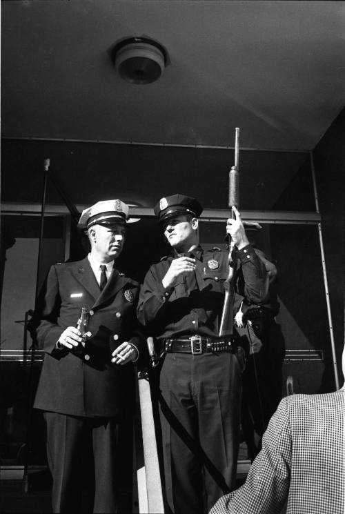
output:
[[[229,172],[229,200],[228,206],[231,209],[230,216],[235,217],[233,206],[239,206],[239,128],[235,128],[235,166],[231,166]],[[229,236],[229,273],[224,281],[224,305],[221,313],[219,326],[219,337],[233,335],[233,308],[235,297],[235,278],[237,271],[237,259],[235,259],[235,243]]]

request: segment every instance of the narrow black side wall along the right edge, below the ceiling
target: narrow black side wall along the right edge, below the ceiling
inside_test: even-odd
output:
[[[344,346],[345,109],[313,152],[339,376]]]

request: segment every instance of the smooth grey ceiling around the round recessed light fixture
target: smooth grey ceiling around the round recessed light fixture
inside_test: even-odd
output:
[[[107,50],[161,42],[145,86]],[[343,1],[3,0],[3,137],[309,150],[344,106]]]

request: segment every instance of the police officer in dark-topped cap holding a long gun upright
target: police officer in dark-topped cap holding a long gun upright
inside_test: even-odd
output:
[[[202,207],[172,195],[155,206],[172,253],[148,270],[139,321],[163,353],[159,408],[166,500],[175,514],[202,514],[235,486],[241,404],[241,355],[219,337],[228,253],[199,245]],[[239,212],[227,232],[237,245],[237,290],[248,302],[265,295],[266,270],[248,243]]]

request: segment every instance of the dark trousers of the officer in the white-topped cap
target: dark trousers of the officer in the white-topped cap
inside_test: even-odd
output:
[[[77,417],[45,412],[48,465],[53,477],[52,512],[81,512],[81,493],[88,482],[85,457],[92,448],[95,473],[90,478],[94,513],[117,513],[117,419]],[[93,485],[95,484],[95,485]]]

